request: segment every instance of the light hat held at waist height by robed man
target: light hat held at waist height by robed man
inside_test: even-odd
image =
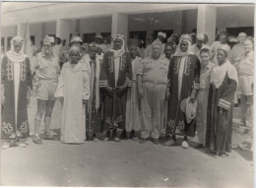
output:
[[[180,102],[180,109],[185,113],[187,123],[191,123],[196,117],[197,101],[190,102],[190,97],[185,98]]]

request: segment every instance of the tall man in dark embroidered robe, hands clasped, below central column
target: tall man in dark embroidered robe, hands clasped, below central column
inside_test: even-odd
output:
[[[132,66],[130,55],[124,49],[124,36],[115,34],[112,47],[103,55],[100,71],[99,87],[105,91],[103,109],[103,129],[107,137],[119,142],[117,128],[125,129],[125,108],[127,87],[132,80]],[[111,134],[112,133],[112,134]]]

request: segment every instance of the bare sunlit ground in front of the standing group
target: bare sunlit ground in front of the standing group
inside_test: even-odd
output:
[[[60,114],[59,103],[54,117]],[[30,123],[35,113],[30,106]],[[59,127],[59,118],[53,127]],[[31,126],[32,128],[32,126]],[[31,130],[33,133],[33,129]],[[1,185],[127,187],[253,187],[253,162],[233,151],[214,157],[202,150],[134,141],[63,145],[44,141],[1,151]]]

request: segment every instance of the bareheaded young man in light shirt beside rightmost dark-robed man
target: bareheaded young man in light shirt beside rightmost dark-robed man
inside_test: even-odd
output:
[[[198,134],[197,149],[203,148],[206,137],[207,124],[207,106],[210,89],[210,76],[214,68],[214,64],[210,61],[210,50],[203,48],[200,51],[201,71],[200,71],[200,88],[197,94],[197,114],[196,127]]]

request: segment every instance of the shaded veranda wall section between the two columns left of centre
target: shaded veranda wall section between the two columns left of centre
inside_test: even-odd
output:
[[[100,32],[111,32],[111,17],[98,17],[91,19],[82,19],[80,20],[80,33],[90,33],[96,32],[99,34]]]

